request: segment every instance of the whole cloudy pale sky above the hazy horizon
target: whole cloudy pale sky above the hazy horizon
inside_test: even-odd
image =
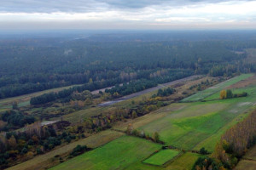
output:
[[[256,29],[256,1],[0,0],[0,30]]]

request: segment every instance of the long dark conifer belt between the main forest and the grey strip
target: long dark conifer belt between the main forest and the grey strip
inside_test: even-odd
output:
[[[122,86],[116,85],[114,88],[106,89],[106,93],[112,94],[113,97],[120,97],[127,94],[136,93],[142,91],[143,89],[153,88],[157,86],[158,83],[164,82],[172,82],[174,80],[189,77],[192,73],[189,70],[171,70],[169,71],[168,75],[164,77],[154,77],[149,80],[142,79],[137,81],[131,81],[129,83],[123,83]],[[103,82],[89,82],[82,86],[77,86],[69,89],[61,90],[58,93],[49,93],[43,94],[38,97],[33,97],[30,100],[31,105],[42,105],[55,99],[61,99],[63,102],[68,102],[71,98],[71,94],[73,92],[83,92],[84,90],[93,91],[96,89],[107,88],[108,86],[113,86],[114,84],[118,84],[119,80],[116,81],[108,80]],[[112,84],[113,83],[113,84]]]

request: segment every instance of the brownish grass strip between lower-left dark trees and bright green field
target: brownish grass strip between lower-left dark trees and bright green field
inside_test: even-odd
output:
[[[57,148],[55,150],[49,151],[48,153],[36,156],[29,161],[24,161],[14,167],[9,167],[9,170],[32,170],[32,169],[46,169],[52,167],[55,161],[59,162],[59,157],[55,158],[56,155],[63,155],[67,152],[72,151],[78,144],[87,145],[90,148],[96,148],[102,144],[107,144],[108,142],[118,139],[123,133],[118,133],[115,131],[107,130],[97,133],[85,139],[80,139],[71,144],[67,144]]]

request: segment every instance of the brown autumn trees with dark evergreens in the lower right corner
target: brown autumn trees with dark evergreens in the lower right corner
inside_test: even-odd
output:
[[[247,118],[230,127],[216,144],[212,156],[199,158],[193,169],[233,169],[255,144],[256,111],[253,111]]]

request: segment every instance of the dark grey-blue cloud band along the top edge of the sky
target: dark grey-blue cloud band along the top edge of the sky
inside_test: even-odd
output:
[[[230,0],[225,0],[230,1]],[[220,0],[1,0],[0,12],[86,13],[108,9],[145,8],[151,5],[183,6],[191,3],[219,3]]]

